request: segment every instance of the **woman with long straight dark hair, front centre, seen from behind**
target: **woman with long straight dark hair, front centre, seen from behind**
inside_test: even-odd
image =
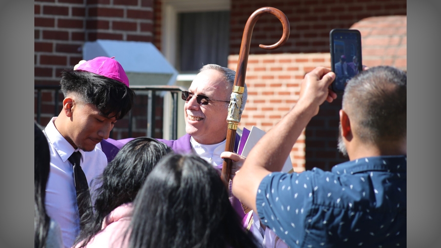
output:
[[[131,248],[257,247],[219,174],[195,155],[170,154],[134,201]]]

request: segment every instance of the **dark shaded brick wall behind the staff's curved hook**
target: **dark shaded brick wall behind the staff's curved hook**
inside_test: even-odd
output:
[[[329,31],[350,28],[370,16],[406,15],[406,0],[234,0],[231,1],[230,54],[238,54],[248,17],[258,8],[274,7],[290,22],[290,38],[276,50],[264,50],[282,36],[282,24],[271,15],[257,20],[251,39],[251,54],[329,52]]]

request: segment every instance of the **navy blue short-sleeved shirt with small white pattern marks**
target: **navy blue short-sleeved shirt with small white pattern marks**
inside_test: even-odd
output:
[[[406,166],[407,156],[380,156],[274,172],[260,182],[257,213],[290,247],[406,246]]]

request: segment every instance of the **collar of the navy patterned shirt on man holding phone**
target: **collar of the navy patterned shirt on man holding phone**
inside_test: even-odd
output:
[[[407,171],[407,155],[365,157],[347,161],[332,167],[333,173],[355,174],[366,171],[403,172]]]

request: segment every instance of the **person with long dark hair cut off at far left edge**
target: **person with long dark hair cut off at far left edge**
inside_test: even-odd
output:
[[[50,170],[49,145],[43,131],[34,123],[34,247],[62,247],[58,224],[46,214],[46,184]]]

